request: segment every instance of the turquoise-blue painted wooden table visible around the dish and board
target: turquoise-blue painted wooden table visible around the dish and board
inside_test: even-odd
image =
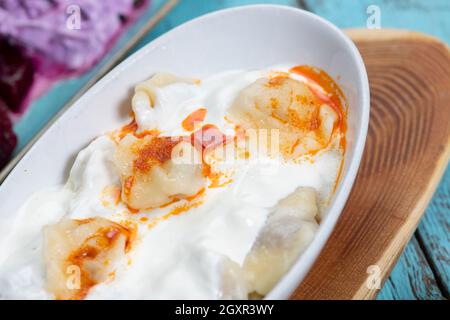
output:
[[[153,0],[151,10],[131,28],[96,68],[83,77],[58,83],[36,100],[15,125],[22,148],[48,120],[101,68],[131,35],[164,3]],[[365,28],[370,5],[379,8],[380,26],[425,32],[450,44],[448,0],[179,0],[172,10],[133,51],[157,36],[199,15],[237,5],[278,3],[314,12],[340,28]],[[450,120],[450,119],[449,119]],[[378,299],[443,299],[450,297],[450,168],[443,177],[424,218],[405,248]]]

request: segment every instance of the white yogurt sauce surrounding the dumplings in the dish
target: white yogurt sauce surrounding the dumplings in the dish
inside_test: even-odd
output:
[[[175,83],[155,89],[152,110],[135,108],[139,129],[159,129],[163,135],[186,134],[183,119],[199,107],[208,109],[205,123],[231,130],[224,120],[237,94],[270,71],[232,71],[200,84]],[[332,191],[341,156],[319,153],[314,161],[298,164],[268,160],[237,166],[233,182],[208,189],[204,203],[148,228],[150,221],[174,206],[132,215],[123,204],[102,202],[106,187],[119,186],[113,164],[115,144],[101,136],[82,150],[65,186],[32,196],[19,210],[9,232],[0,235],[0,298],[51,299],[45,290],[42,228],[62,218],[101,216],[138,223],[138,236],[128,263],[115,279],[93,287],[87,299],[215,299],[221,291],[224,258],[242,265],[271,208],[299,186],[314,187],[320,198]],[[43,182],[45,183],[45,182]],[[103,194],[103,195],[102,195]],[[3,259],[3,260],[1,260]]]

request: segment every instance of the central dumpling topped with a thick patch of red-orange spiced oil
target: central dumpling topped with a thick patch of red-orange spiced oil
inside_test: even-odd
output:
[[[201,159],[201,152],[180,137],[127,135],[115,154],[122,201],[141,210],[196,195],[206,183]]]

